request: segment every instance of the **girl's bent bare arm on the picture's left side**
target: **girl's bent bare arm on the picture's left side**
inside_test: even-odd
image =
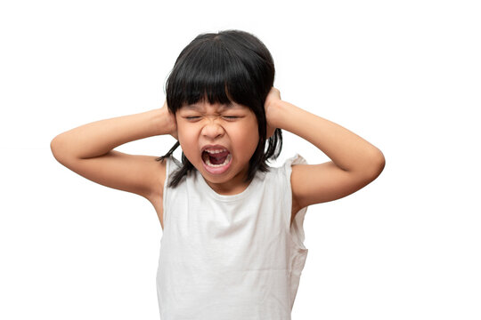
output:
[[[57,135],[50,147],[55,159],[73,172],[152,202],[162,196],[165,162],[155,161],[158,156],[128,155],[113,148],[162,134],[176,138],[175,116],[168,112],[167,103],[143,113],[84,124]]]

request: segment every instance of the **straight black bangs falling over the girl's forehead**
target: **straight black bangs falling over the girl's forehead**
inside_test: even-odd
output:
[[[252,108],[249,101],[258,96],[256,81],[239,53],[217,41],[202,42],[183,53],[167,79],[167,105],[172,112],[206,99],[210,104],[236,102]]]

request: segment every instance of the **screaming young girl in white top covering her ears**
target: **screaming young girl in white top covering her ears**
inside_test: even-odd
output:
[[[247,32],[202,34],[167,79],[162,108],[85,124],[56,136],[70,170],[148,199],[163,229],[157,288],[163,320],[287,320],[306,262],[308,205],[350,195],[379,176],[378,148],[281,100],[273,59]],[[331,161],[294,156],[281,167],[281,130]],[[166,156],[114,148],[170,134]],[[172,156],[180,145],[182,163]]]

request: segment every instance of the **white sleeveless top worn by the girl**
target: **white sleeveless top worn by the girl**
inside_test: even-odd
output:
[[[291,164],[257,172],[249,187],[219,195],[194,170],[176,188],[167,159],[157,293],[161,320],[290,320],[306,263],[303,222],[290,225]]]

